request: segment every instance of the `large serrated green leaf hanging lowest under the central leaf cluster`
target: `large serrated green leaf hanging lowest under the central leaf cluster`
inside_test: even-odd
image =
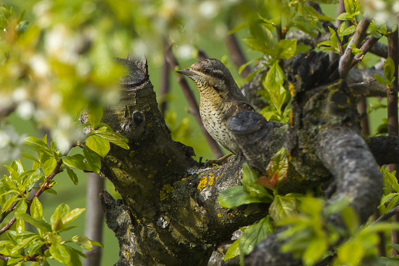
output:
[[[240,255],[251,253],[255,246],[272,232],[273,228],[270,223],[270,216],[266,216],[259,222],[249,226],[244,232],[242,232],[238,243]]]

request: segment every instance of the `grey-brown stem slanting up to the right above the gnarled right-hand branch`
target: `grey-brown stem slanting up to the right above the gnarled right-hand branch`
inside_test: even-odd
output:
[[[353,35],[351,41],[348,43],[344,55],[340,59],[338,70],[341,79],[347,80],[349,70],[351,69],[352,66],[353,58],[355,57],[355,55],[352,52],[351,45],[354,44],[356,48],[359,48],[360,44],[365,39],[366,31],[369,25],[370,25],[370,20],[365,15],[360,21],[360,23],[357,25],[355,34]]]

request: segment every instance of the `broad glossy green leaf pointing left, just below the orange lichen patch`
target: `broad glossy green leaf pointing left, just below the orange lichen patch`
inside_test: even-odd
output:
[[[221,191],[217,200],[220,206],[229,209],[244,204],[261,202],[259,199],[249,196],[249,194],[244,191],[243,186],[230,187]]]

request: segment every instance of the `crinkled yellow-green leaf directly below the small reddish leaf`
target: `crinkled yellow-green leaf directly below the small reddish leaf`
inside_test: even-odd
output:
[[[291,195],[275,195],[274,200],[269,207],[271,218],[278,222],[281,219],[291,216],[298,211],[297,199]]]

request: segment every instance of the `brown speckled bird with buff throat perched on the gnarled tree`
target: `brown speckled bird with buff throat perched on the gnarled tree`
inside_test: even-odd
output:
[[[226,127],[227,121],[239,112],[255,112],[255,109],[241,93],[228,68],[218,59],[208,58],[176,72],[188,76],[197,85],[200,116],[206,131],[222,147],[237,154],[239,146]]]

